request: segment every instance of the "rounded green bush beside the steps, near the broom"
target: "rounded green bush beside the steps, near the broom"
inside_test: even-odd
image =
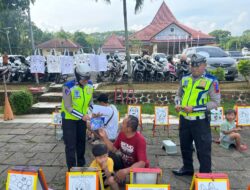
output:
[[[28,91],[13,92],[10,95],[10,103],[15,114],[25,114],[29,112],[33,104],[33,96]]]

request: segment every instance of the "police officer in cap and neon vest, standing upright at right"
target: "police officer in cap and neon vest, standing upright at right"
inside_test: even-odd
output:
[[[179,138],[183,166],[173,170],[178,176],[193,175],[193,141],[200,163],[199,172],[211,172],[212,136],[208,112],[220,105],[217,79],[206,73],[206,58],[191,56],[191,74],[181,80],[175,109],[180,115]]]

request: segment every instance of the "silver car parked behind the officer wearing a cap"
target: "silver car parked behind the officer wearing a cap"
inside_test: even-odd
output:
[[[236,60],[219,47],[214,46],[197,46],[183,50],[187,56],[194,53],[200,53],[207,58],[207,70],[211,71],[218,67],[222,67],[225,71],[226,80],[233,81],[238,77]]]

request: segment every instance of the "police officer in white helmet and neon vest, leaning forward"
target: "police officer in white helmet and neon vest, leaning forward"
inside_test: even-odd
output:
[[[63,86],[62,128],[68,170],[71,167],[85,165],[85,139],[88,108],[92,103],[93,86],[88,64],[79,64],[75,68],[76,80]]]

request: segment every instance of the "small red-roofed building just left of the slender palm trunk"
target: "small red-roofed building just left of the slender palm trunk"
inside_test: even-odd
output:
[[[102,46],[102,51],[103,53],[107,53],[107,54],[125,52],[124,38],[117,36],[115,34],[112,34],[104,42]]]

